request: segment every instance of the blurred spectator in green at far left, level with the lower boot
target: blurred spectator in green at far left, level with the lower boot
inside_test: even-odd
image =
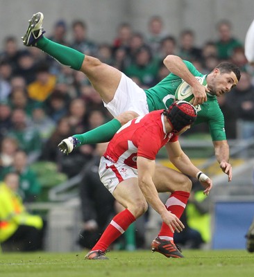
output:
[[[12,128],[7,136],[12,136],[18,141],[19,149],[24,150],[28,154],[28,163],[37,161],[42,147],[39,132],[29,122],[23,109],[13,110],[11,120]]]

